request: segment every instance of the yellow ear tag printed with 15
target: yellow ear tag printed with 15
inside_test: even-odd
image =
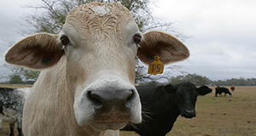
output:
[[[162,74],[164,71],[164,64],[160,61],[159,56],[154,57],[154,62],[148,65],[148,74]]]

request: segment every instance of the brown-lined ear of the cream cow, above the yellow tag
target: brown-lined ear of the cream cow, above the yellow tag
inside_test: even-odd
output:
[[[147,65],[154,61],[156,55],[160,56],[160,61],[164,64],[189,57],[189,49],[183,42],[167,33],[149,31],[143,34],[143,37],[139,43],[140,48],[138,48],[137,56]]]

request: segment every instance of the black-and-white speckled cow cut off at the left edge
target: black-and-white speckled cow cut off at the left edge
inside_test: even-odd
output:
[[[22,135],[22,111],[31,88],[0,88],[0,129],[1,123],[9,122],[10,136],[14,135],[15,122],[19,136]]]

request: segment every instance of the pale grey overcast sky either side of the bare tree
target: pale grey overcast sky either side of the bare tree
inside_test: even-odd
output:
[[[20,17],[32,12],[21,8],[40,0],[11,0],[0,4],[0,65],[9,48],[18,42],[17,31],[25,29]],[[178,31],[193,36],[184,43],[190,56],[175,65],[182,71],[212,80],[256,77],[256,1],[255,0],[158,0],[153,15],[176,22]],[[0,75],[9,70],[0,67]],[[172,71],[173,76],[180,73]]]

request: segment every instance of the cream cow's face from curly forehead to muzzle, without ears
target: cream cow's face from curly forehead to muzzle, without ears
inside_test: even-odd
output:
[[[75,91],[76,119],[80,126],[99,122],[96,129],[105,129],[98,127],[101,122],[122,122],[121,127],[127,122],[141,122],[134,68],[136,40],[143,36],[130,13],[126,15],[106,5],[85,6],[70,11],[59,37],[69,41],[65,45],[67,80],[70,90]],[[80,8],[85,12],[78,13]],[[81,20],[81,14],[90,20]]]

